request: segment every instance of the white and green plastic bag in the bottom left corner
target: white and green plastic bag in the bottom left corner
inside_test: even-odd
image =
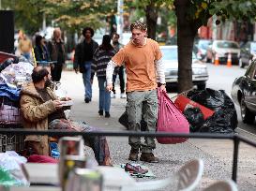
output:
[[[14,151],[0,154],[0,184],[5,186],[29,185],[22,168],[24,163],[26,163],[26,158]]]

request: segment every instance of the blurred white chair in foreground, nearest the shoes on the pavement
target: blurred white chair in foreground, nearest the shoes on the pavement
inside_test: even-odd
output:
[[[157,181],[136,182],[135,184],[123,186],[122,191],[162,189],[175,182],[177,182],[176,190],[191,191],[200,183],[202,176],[203,160],[194,159],[188,161],[169,178]]]

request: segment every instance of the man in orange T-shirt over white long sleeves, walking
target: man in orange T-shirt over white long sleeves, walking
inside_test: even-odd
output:
[[[161,51],[158,42],[146,38],[146,25],[143,22],[133,22],[130,25],[132,39],[118,51],[109,62],[106,70],[107,90],[113,89],[113,69],[123,63],[127,70],[127,100],[128,100],[128,128],[131,131],[141,130],[142,116],[147,124],[147,131],[156,131],[158,117],[157,77],[160,89],[165,90],[164,67],[161,61]],[[158,163],[158,157],[153,154],[156,148],[153,138],[129,137],[131,146],[128,159]]]

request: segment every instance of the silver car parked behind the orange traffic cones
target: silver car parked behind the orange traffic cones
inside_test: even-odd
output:
[[[228,55],[231,53],[232,63],[238,65],[240,57],[240,48],[237,42],[230,40],[214,40],[213,44],[207,50],[207,62],[214,63],[218,55],[219,63],[226,64]]]

